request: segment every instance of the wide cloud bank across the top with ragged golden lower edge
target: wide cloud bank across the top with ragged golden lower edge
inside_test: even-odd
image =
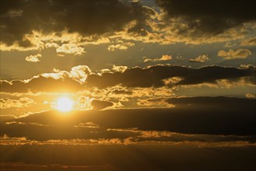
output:
[[[41,51],[54,47],[60,52],[58,55],[63,56],[84,54],[86,44],[110,43],[107,47],[109,51],[126,50],[132,47],[135,41],[159,44],[208,44],[244,39],[248,34],[247,30],[251,30],[254,25],[250,23],[254,19],[239,19],[243,15],[237,18],[231,17],[232,15],[230,18],[205,15],[205,8],[209,7],[203,6],[208,4],[202,2],[200,5],[200,1],[194,1],[192,6],[195,6],[195,9],[202,9],[201,16],[198,16],[200,12],[195,10],[191,10],[191,13],[195,13],[191,15],[186,10],[188,6],[183,5],[185,9],[180,8],[182,4],[177,1],[156,1],[160,10],[146,6],[143,2],[118,0],[72,3],[60,3],[58,0],[47,3],[38,0],[18,1],[16,5],[12,5],[3,0],[0,44],[2,51]],[[223,9],[219,2],[212,4]],[[177,9],[173,10],[176,5]],[[232,5],[236,6],[237,3]],[[38,8],[40,10],[36,10]],[[168,10],[169,8],[171,9]],[[170,15],[167,11],[175,15]],[[210,11],[214,13],[213,9]],[[48,21],[49,18],[51,21]],[[10,29],[20,25],[25,26]]]

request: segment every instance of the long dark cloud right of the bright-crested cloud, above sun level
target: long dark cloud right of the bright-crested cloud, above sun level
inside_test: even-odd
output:
[[[121,84],[126,87],[161,87],[165,86],[163,79],[181,77],[183,80],[176,85],[192,85],[203,82],[216,83],[218,79],[237,80],[248,77],[248,82],[255,83],[255,68],[224,68],[208,66],[203,68],[187,68],[181,66],[158,65],[150,68],[130,68],[125,72],[103,73],[89,75],[87,84],[105,88]],[[173,85],[170,85],[173,86]]]

